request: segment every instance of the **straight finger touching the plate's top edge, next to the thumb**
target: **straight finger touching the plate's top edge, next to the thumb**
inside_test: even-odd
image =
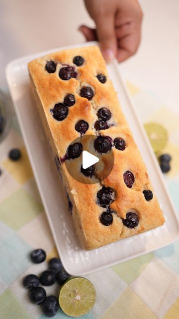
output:
[[[114,14],[106,14],[95,20],[100,49],[106,62],[117,54],[117,40],[114,28]]]

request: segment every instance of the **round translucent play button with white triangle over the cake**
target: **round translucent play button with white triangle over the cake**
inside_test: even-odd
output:
[[[64,156],[66,169],[78,182],[84,184],[99,183],[110,174],[113,168],[112,140],[109,150],[106,153],[101,153],[95,147],[96,141],[98,142],[97,139],[99,139],[99,136],[85,134],[72,141],[66,150]],[[109,145],[109,140],[107,141],[107,145]],[[103,150],[106,142],[104,141],[105,145],[101,143],[103,142],[100,140],[100,148]]]

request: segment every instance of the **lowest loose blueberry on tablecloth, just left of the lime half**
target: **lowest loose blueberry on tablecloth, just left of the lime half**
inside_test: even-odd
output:
[[[55,296],[48,296],[42,303],[43,314],[49,318],[54,317],[59,309],[59,303]]]

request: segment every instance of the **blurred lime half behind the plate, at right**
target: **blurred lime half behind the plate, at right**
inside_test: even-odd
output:
[[[144,128],[155,153],[165,148],[168,141],[168,133],[166,129],[158,123],[146,123]]]

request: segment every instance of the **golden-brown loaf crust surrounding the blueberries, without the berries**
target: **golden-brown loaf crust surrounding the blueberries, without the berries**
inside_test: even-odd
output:
[[[60,79],[58,76],[60,68],[63,64],[74,66],[73,57],[76,55],[81,55],[85,59],[83,66],[76,67],[77,79],[72,78],[68,81]],[[45,71],[45,64],[49,60],[57,63],[55,73]],[[96,199],[96,193],[102,187],[101,183],[80,183],[70,176],[65,164],[61,164],[62,177],[74,207],[74,222],[84,248],[94,249],[162,225],[165,220],[156,195],[154,194],[152,200],[146,201],[142,193],[144,189],[150,189],[153,192],[154,190],[146,166],[120,108],[117,94],[107,76],[105,62],[98,47],[89,46],[55,52],[31,61],[28,68],[40,100],[38,108],[54,156],[58,155],[59,158],[63,158],[70,143],[80,137],[75,130],[75,124],[79,120],[87,121],[88,134],[96,135],[94,123],[97,120],[97,110],[101,107],[106,107],[111,111],[110,123],[113,123],[114,126],[100,131],[100,134],[110,136],[112,140],[122,137],[127,144],[124,151],[113,148],[114,166],[108,177],[102,181],[104,186],[114,188],[117,194],[116,199],[110,205],[116,213],[113,214],[113,222],[109,226],[104,226],[99,221],[100,214],[105,211],[105,208],[97,204]],[[98,73],[106,75],[106,83],[102,84],[98,81],[96,78]],[[94,91],[91,101],[79,95],[80,88],[84,85],[90,86]],[[50,110],[56,103],[62,103],[68,93],[75,95],[76,103],[73,107],[69,107],[66,119],[56,121]],[[73,160],[71,161],[74,165]],[[78,164],[80,165],[80,159]],[[123,173],[126,170],[132,171],[135,176],[132,188],[128,188],[124,183]],[[85,179],[89,180],[89,177],[84,176]],[[127,228],[122,222],[126,213],[131,209],[138,212],[140,220],[139,225],[133,229]]]

